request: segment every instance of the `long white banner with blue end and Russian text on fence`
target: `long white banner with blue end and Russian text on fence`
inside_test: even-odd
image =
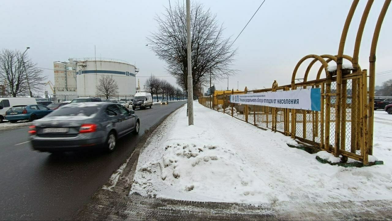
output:
[[[232,94],[230,95],[230,102],[320,111],[321,90],[319,88],[310,88],[252,94]]]

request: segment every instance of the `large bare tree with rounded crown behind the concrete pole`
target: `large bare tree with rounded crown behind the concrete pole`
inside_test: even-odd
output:
[[[187,33],[185,5],[177,3],[173,10],[166,8],[156,16],[158,31],[147,38],[150,48],[167,63],[167,71],[187,91]],[[191,8],[192,79],[195,85],[207,85],[213,80],[227,78],[236,70],[231,69],[236,50],[230,38],[223,37],[223,27],[208,9],[200,3]]]

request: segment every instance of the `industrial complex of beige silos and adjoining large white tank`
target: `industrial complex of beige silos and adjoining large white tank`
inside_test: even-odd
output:
[[[113,76],[118,85],[116,99],[132,98],[136,93],[136,73],[139,70],[123,60],[70,58],[69,62],[53,62],[53,65],[56,100],[98,96],[96,86],[99,79],[107,75]]]

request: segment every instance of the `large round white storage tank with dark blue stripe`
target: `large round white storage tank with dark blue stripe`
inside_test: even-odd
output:
[[[128,62],[111,58],[79,58],[76,62],[78,96],[98,96],[96,86],[103,76],[113,76],[118,85],[118,98],[129,98],[136,93],[138,69]],[[117,98],[117,96],[116,96]]]

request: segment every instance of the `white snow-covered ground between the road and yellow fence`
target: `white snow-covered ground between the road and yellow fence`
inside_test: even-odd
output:
[[[392,199],[392,115],[376,111],[374,156],[384,165],[345,168],[319,163],[295,141],[194,102],[168,118],[142,150],[131,194],[191,201],[305,208],[312,203]],[[167,125],[167,124],[166,124]],[[162,132],[163,130],[163,132]],[[162,134],[164,134],[162,136]],[[289,205],[289,206],[287,206]]]

